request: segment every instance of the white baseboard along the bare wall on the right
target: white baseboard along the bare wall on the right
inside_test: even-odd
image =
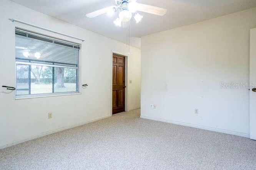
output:
[[[218,128],[214,128],[214,127],[201,126],[201,125],[196,125],[196,124],[190,124],[190,123],[184,123],[184,122],[178,122],[178,121],[171,121],[171,120],[160,119],[160,118],[153,118],[153,117],[145,116],[145,115],[141,115],[140,117],[143,118],[143,119],[150,119],[150,120],[155,120],[155,121],[160,121],[160,122],[178,124],[178,125],[182,125],[182,126],[195,127],[195,128],[198,128],[198,129],[204,129],[204,130],[214,131],[214,132],[221,132],[221,133],[225,133],[225,134],[232,134],[232,135],[236,135],[236,136],[242,136],[242,137],[248,137],[248,138],[250,136],[249,134],[242,133],[242,132],[229,131],[229,130],[225,130],[225,129],[218,129]]]

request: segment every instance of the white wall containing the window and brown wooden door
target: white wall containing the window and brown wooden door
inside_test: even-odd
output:
[[[9,18],[70,34],[81,41],[12,23]],[[33,11],[8,0],[0,5],[0,85],[15,87],[15,26],[82,44],[81,83],[89,83],[81,95],[15,100],[15,92],[0,87],[0,148],[37,136],[84,124],[111,115],[111,51],[128,54],[126,44]],[[121,28],[120,28],[121,29]],[[128,56],[128,109],[140,107],[140,49]],[[47,119],[53,112],[53,119]]]

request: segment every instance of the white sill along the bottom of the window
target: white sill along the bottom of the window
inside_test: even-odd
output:
[[[15,96],[15,100],[28,99],[28,98],[42,98],[42,97],[54,97],[54,96],[68,96],[68,95],[81,95],[79,92],[69,92],[69,93],[48,93],[48,94],[38,94],[38,95],[19,95]]]

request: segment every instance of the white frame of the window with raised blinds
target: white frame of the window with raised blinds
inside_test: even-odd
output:
[[[38,36],[38,37],[43,37],[43,38],[47,38],[47,39],[53,39],[53,40],[57,40],[59,42],[63,42],[66,44],[74,44],[74,45],[78,45],[80,47],[79,51],[78,51],[78,64],[77,67],[70,67],[70,66],[64,66],[64,65],[57,65],[55,64],[54,67],[62,67],[62,68],[71,68],[71,69],[77,69],[77,91],[76,92],[53,92],[53,93],[40,93],[40,94],[28,94],[28,95],[17,95],[17,93],[15,92],[15,100],[19,100],[19,99],[27,99],[27,98],[42,98],[42,97],[51,97],[51,96],[66,96],[66,95],[80,95],[80,53],[81,53],[81,44],[79,43],[74,43],[68,40],[64,40],[64,39],[59,39],[59,38],[55,38],[52,36],[47,36],[45,34],[40,34],[40,33],[36,33],[33,31],[28,31],[25,29],[21,29],[21,28],[16,28],[15,27],[15,31],[16,30],[20,30],[24,33],[28,33],[34,36]],[[15,33],[16,35],[16,33]],[[15,38],[15,42],[16,42],[16,38]],[[16,54],[16,52],[15,52]],[[23,61],[17,61],[16,56],[15,56],[15,87],[17,89],[17,64],[24,64],[24,65],[40,65],[40,66],[48,66],[48,67],[53,67],[52,64],[41,64],[41,63],[33,63],[33,62],[23,62]]]

